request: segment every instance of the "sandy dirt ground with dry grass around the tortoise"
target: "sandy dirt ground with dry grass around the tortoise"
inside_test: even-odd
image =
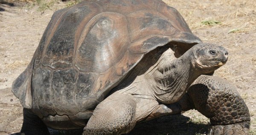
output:
[[[201,40],[229,50],[228,62],[215,75],[239,88],[250,110],[250,135],[256,135],[256,0],[164,1],[180,11]],[[13,4],[0,0],[0,135],[20,131],[22,106],[12,95],[12,82],[30,62],[53,12],[69,3],[55,1],[44,12],[33,2]],[[201,23],[206,20],[216,24]],[[202,135],[208,126],[206,117],[191,110],[138,124],[130,134]]]

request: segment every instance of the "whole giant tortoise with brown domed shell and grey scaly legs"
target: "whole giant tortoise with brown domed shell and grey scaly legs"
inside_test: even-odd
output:
[[[224,47],[202,43],[161,0],[85,0],[52,15],[35,54],[14,81],[25,135],[84,129],[130,132],[137,122],[197,109],[209,135],[246,134],[247,106],[211,76]]]

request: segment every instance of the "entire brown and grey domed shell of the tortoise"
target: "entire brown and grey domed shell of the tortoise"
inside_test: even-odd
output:
[[[93,110],[146,53],[169,42],[201,40],[162,1],[85,0],[53,14],[12,92],[40,116]]]

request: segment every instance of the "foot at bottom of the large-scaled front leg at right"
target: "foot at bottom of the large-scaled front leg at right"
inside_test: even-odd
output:
[[[207,135],[248,135],[250,121],[229,124],[229,125],[212,125],[208,129]]]

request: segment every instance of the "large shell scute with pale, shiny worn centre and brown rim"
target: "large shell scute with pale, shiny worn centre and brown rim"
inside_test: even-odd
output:
[[[122,58],[129,42],[125,16],[113,12],[98,14],[84,27],[75,65],[82,72],[105,72]]]

